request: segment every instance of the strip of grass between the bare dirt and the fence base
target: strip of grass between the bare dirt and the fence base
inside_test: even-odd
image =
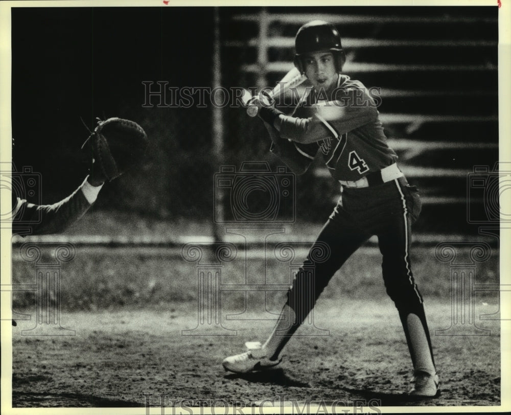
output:
[[[49,255],[57,245],[40,246]],[[296,249],[293,264],[275,259],[271,246],[266,251],[238,251],[237,258],[223,263],[220,271],[221,284],[226,291],[225,306],[240,308],[245,302],[245,292],[230,291],[229,285],[276,284],[281,290],[268,297],[280,309],[285,290],[291,281],[291,272],[305,259],[306,246],[308,244],[304,243],[303,248]],[[207,249],[204,253],[207,253]],[[42,261],[52,262],[53,259],[48,256]],[[422,294],[449,302],[449,263],[435,259],[434,248],[422,247],[414,249],[411,261]],[[457,261],[470,262],[468,251],[461,252]],[[194,302],[197,298],[197,267],[203,267],[204,262],[207,262],[204,258],[200,263],[185,261],[180,248],[79,247],[75,258],[71,262],[62,263],[60,268],[62,307],[67,310],[94,311],[118,306],[147,307],[168,302]],[[496,253],[488,261],[475,263],[474,266],[478,284],[498,284]],[[19,248],[14,249],[13,284],[34,284],[35,272],[35,264],[22,260]],[[257,287],[254,290],[257,291]],[[256,295],[255,291],[247,295]],[[369,303],[386,296],[381,277],[380,253],[377,248],[362,247],[334,275],[321,298],[357,298]],[[485,296],[495,299],[495,293],[478,293],[482,302],[486,301]],[[34,292],[19,292],[13,298],[13,305],[15,309],[27,308],[34,301]]]

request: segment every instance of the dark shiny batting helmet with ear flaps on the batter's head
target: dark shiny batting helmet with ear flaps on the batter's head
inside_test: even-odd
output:
[[[294,45],[294,65],[300,73],[305,72],[303,55],[320,51],[332,52],[337,72],[341,72],[346,57],[342,51],[341,35],[334,25],[323,20],[310,21],[298,29]]]

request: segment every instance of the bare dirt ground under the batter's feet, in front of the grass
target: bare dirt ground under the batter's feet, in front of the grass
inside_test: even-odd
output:
[[[411,363],[390,300],[370,307],[353,299],[320,302],[315,327],[300,328],[281,367],[251,375],[226,373],[221,361],[241,351],[246,340],[263,339],[273,321],[225,321],[235,335],[183,336],[182,330],[197,326],[193,303],[64,312],[61,324],[74,329],[74,336],[21,335],[34,321],[13,327],[12,404],[144,407],[160,406],[163,397],[167,407],[282,404],[303,410],[310,402],[339,410],[365,402],[373,412],[380,406],[499,405],[499,321],[478,318],[496,310],[496,304],[476,304],[477,326],[489,330],[487,335],[440,336],[435,330],[450,326],[451,306],[426,304],[442,393],[420,401],[404,395]]]

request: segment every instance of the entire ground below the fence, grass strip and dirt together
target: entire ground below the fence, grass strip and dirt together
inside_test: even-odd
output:
[[[51,262],[52,246],[41,246],[43,260]],[[297,249],[295,262],[305,253]],[[361,400],[385,407],[499,405],[498,293],[476,292],[471,303],[476,321],[468,322],[469,329],[475,324],[485,335],[435,334],[453,321],[451,269],[431,247],[416,248],[412,263],[442,380],[438,399],[409,401],[403,395],[411,362],[373,247],[361,248],[334,276],[314,310],[314,325],[304,324],[293,337],[280,369],[224,373],[222,359],[242,351],[247,340],[263,340],[282,307],[293,265],[272,255],[271,249],[250,249],[246,256],[240,250],[223,264],[216,310],[222,328],[205,324],[197,335],[198,264],[185,261],[180,249],[77,247],[75,258],[60,267],[60,324],[74,336],[23,332],[35,325],[37,296],[13,296],[14,310],[31,315],[12,331],[13,406],[159,406],[160,394],[166,406],[253,406],[265,399],[266,405],[284,399],[285,406],[335,400],[346,406]],[[22,260],[16,246],[12,259],[13,284],[34,284],[36,265]],[[476,283],[497,284],[497,269],[494,250],[475,265]],[[282,288],[266,299],[264,275],[266,284]],[[240,285],[249,289],[236,291]],[[49,304],[58,304],[55,294],[44,294]]]

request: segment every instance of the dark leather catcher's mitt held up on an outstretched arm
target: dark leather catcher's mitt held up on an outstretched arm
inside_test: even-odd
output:
[[[142,160],[148,142],[140,125],[114,117],[99,120],[82,148],[87,143],[92,147],[94,168],[99,169],[106,180],[112,180]]]

